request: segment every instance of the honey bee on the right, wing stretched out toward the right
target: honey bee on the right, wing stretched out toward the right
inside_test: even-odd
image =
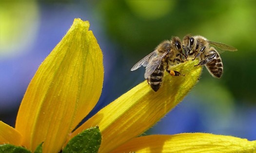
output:
[[[219,51],[237,51],[235,47],[207,40],[205,37],[189,34],[183,37],[182,48],[185,51],[185,59],[189,56],[198,58],[200,62],[195,66],[203,66],[208,69],[213,77],[220,78],[223,73],[223,64],[219,56]]]

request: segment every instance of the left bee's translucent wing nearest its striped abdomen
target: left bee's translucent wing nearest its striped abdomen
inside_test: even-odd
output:
[[[145,79],[147,79],[154,72],[154,70],[158,68],[159,64],[162,62],[163,57],[167,53],[168,52],[165,51],[163,53],[158,54],[156,57],[150,59],[150,62],[148,63],[144,74]]]

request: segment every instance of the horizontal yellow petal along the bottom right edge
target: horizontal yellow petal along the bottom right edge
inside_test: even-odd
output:
[[[255,153],[256,141],[213,134],[141,136],[111,153]]]

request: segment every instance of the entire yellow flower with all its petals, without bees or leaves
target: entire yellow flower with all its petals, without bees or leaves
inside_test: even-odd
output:
[[[98,102],[103,84],[103,57],[88,21],[72,27],[44,60],[21,102],[16,127],[0,121],[0,144],[24,146],[34,152],[58,153],[85,129],[98,126],[99,153],[255,152],[256,142],[232,136],[178,134],[141,136],[174,108],[197,83],[201,67],[177,65],[185,76],[164,75],[154,92],[147,81],[135,86],[73,131]]]

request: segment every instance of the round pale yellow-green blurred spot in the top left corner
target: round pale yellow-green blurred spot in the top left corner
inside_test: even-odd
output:
[[[35,0],[0,0],[0,59],[18,55],[33,43],[38,12]]]

